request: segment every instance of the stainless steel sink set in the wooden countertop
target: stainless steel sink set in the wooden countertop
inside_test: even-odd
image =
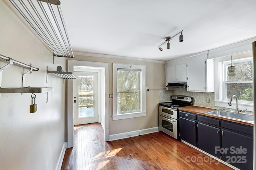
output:
[[[219,115],[219,116],[222,116],[222,117],[228,117],[228,118],[233,118],[233,119],[240,119],[240,120],[243,120],[243,121],[254,121],[252,115],[236,114],[236,113],[230,112],[230,111],[215,110],[215,111],[208,111],[208,112],[204,112],[204,113],[208,113],[208,114],[211,114],[211,115]]]

